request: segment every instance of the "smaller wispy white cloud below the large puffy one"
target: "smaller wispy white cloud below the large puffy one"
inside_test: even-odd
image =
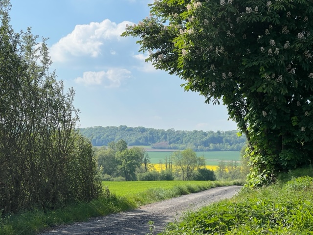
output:
[[[85,86],[104,85],[105,88],[116,88],[122,85],[122,82],[130,77],[131,72],[125,69],[111,69],[108,71],[87,71],[83,77],[77,77],[75,82]]]

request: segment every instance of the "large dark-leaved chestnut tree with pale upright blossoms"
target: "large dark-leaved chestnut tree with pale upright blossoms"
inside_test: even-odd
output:
[[[156,0],[128,26],[156,69],[246,134],[252,186],[313,160],[311,0]]]

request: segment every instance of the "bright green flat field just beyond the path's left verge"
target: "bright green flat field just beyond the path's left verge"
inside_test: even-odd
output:
[[[107,186],[110,192],[119,196],[134,195],[151,188],[170,189],[176,186],[193,185],[209,186],[211,181],[103,181],[102,184]]]

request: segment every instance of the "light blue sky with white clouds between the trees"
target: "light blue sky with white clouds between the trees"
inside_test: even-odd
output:
[[[236,130],[226,107],[185,92],[183,80],[155,70],[138,39],[120,37],[126,24],[149,16],[153,0],[11,0],[16,32],[48,38],[57,79],[75,90],[79,127],[143,126],[175,130]]]

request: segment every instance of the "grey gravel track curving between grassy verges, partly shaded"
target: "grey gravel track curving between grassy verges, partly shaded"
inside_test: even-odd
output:
[[[142,206],[134,211],[93,218],[89,222],[57,227],[42,235],[146,235],[148,222],[154,222],[154,233],[160,233],[166,223],[179,219],[185,211],[194,211],[212,202],[235,195],[241,186],[211,188],[202,192]]]

